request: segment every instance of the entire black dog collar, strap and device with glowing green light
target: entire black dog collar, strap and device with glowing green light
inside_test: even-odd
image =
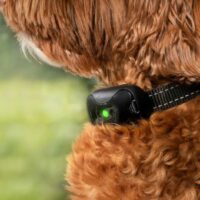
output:
[[[200,94],[200,84],[169,84],[145,92],[135,85],[100,89],[87,99],[93,124],[128,124],[147,119],[156,111],[182,104]]]

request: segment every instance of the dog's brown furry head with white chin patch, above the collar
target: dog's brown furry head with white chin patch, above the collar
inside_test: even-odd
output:
[[[104,83],[200,80],[198,0],[0,0],[23,49]]]

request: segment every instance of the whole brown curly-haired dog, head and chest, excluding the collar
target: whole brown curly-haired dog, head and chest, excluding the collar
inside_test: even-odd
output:
[[[199,0],[0,0],[22,47],[106,86],[200,82]],[[199,200],[200,99],[133,125],[88,124],[74,200]]]

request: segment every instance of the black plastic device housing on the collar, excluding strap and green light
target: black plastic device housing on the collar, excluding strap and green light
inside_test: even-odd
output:
[[[147,92],[135,85],[121,85],[100,89],[87,99],[88,113],[93,124],[124,124],[148,118],[153,112],[153,102]],[[103,119],[102,109],[108,109],[111,116]]]

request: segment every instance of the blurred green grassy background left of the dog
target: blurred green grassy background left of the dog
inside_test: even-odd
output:
[[[69,199],[66,155],[91,85],[26,60],[0,17],[0,200]]]

